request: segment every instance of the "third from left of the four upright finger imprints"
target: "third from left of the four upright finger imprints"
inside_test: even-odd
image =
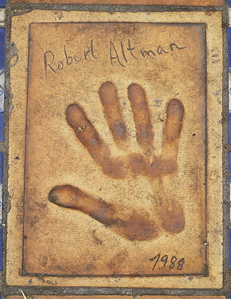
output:
[[[132,83],[128,86],[128,97],[133,111],[137,141],[149,152],[152,148],[153,133],[145,92],[141,86]]]

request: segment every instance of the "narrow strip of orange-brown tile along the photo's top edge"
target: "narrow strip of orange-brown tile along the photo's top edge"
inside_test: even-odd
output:
[[[11,0],[12,3],[57,3],[57,4],[138,4],[173,6],[222,6],[222,0]]]

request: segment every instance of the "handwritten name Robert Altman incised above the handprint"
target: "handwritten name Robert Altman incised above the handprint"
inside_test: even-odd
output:
[[[114,64],[118,64],[121,67],[126,67],[126,63],[128,63],[129,58],[146,59],[148,57],[168,54],[174,50],[182,50],[184,48],[186,48],[186,46],[179,46],[175,42],[172,42],[167,46],[157,45],[151,49],[144,49],[143,47],[137,48],[132,45],[130,39],[127,39],[126,44],[120,41],[119,46],[115,46],[115,44],[110,41],[108,45],[108,61],[112,66]],[[55,54],[51,50],[48,50],[44,53],[45,77],[47,77],[49,72],[56,74],[58,71],[63,70],[66,66],[74,63],[81,63],[89,57],[93,58],[93,60],[98,59],[98,53],[94,48],[92,39],[89,42],[89,46],[86,49],[82,49],[78,55],[74,53],[67,53],[66,46],[64,45],[63,60],[60,61],[55,61]]]

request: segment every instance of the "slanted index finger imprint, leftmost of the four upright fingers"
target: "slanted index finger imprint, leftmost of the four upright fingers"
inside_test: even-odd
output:
[[[66,110],[66,119],[90,155],[101,166],[104,166],[105,160],[109,156],[109,150],[92,123],[87,119],[83,109],[77,104],[69,105]]]

